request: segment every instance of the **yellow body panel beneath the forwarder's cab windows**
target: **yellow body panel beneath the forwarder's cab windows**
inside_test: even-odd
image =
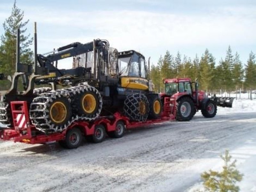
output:
[[[121,87],[147,90],[148,80],[139,77],[121,77]]]

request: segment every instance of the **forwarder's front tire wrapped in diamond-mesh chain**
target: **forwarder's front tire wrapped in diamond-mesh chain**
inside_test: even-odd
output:
[[[124,100],[124,114],[133,121],[146,121],[149,113],[149,102],[143,94],[132,94]]]

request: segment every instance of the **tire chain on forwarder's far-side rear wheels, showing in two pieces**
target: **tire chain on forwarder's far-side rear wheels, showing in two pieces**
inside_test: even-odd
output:
[[[41,87],[33,89],[33,94],[40,95],[41,93],[51,91],[50,87]],[[0,102],[0,123],[4,125],[11,125],[11,109],[8,102]]]

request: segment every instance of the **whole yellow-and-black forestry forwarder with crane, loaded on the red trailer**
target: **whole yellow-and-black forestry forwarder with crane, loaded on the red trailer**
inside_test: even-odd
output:
[[[78,120],[91,122],[116,112],[137,122],[160,117],[161,100],[153,92],[145,58],[140,53],[118,52],[109,47],[108,41],[96,39],[85,44],[71,43],[44,56],[37,54],[36,23],[34,35],[32,66],[20,63],[17,32],[16,72],[11,88],[1,95],[0,123],[13,124],[12,101],[26,101],[30,123],[45,134],[61,132]],[[73,57],[76,68],[58,69],[58,60],[69,57]],[[17,91],[19,77],[22,92]],[[0,80],[4,79],[9,78],[1,73]],[[35,84],[50,84],[52,88],[34,88]],[[65,88],[56,89],[57,85]]]

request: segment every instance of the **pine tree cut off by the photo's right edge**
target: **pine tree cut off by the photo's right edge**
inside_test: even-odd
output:
[[[256,60],[255,54],[251,51],[247,65],[245,66],[245,86],[252,89],[256,87]]]

